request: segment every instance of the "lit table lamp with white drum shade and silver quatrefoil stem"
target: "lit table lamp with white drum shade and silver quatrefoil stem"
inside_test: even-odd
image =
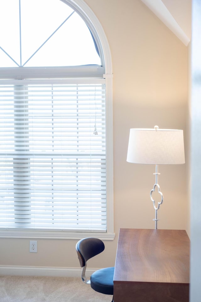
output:
[[[150,198],[155,209],[155,229],[157,229],[158,210],[163,202],[163,194],[158,184],[158,165],[184,164],[183,130],[159,129],[130,129],[127,161],[136,164],[155,165],[155,184],[150,192]],[[160,202],[156,206],[152,193],[158,188]]]

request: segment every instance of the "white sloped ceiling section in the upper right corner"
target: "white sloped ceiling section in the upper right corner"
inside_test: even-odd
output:
[[[183,43],[191,40],[191,0],[141,0]]]

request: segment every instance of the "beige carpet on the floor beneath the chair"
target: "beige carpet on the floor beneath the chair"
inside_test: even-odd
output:
[[[111,302],[81,278],[0,276],[0,302]]]

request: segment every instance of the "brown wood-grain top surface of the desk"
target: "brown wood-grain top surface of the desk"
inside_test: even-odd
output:
[[[120,229],[114,283],[189,283],[189,256],[184,230]]]

